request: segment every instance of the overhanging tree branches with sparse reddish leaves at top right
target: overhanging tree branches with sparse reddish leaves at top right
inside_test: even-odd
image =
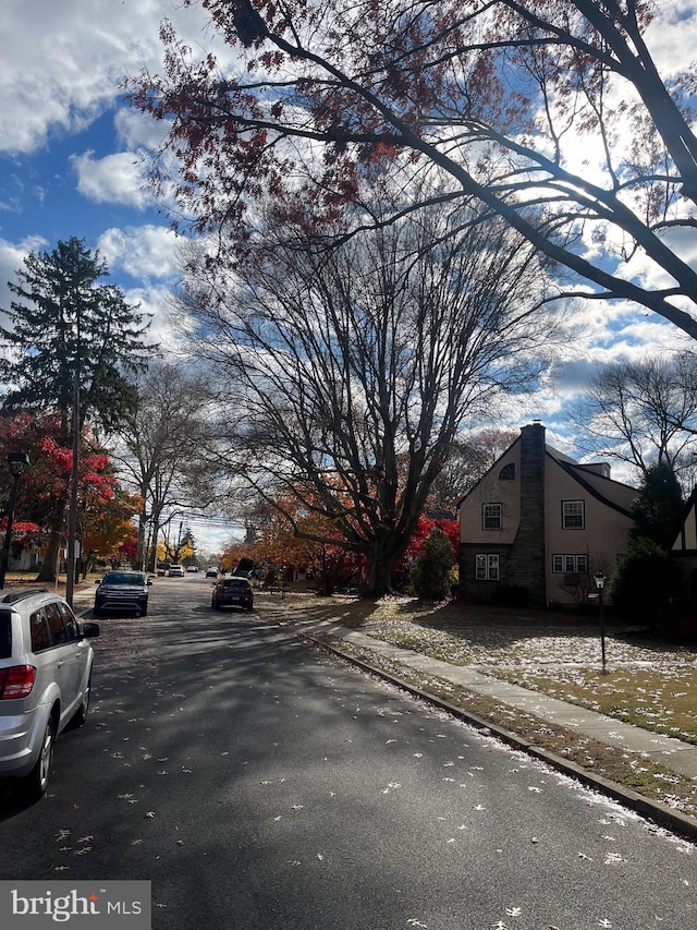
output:
[[[672,60],[661,74],[651,53],[677,28],[675,4],[203,5],[232,64],[230,48],[196,60],[164,23],[164,74],[131,83],[169,126],[155,181],[174,183],[199,230],[246,243],[260,196],[334,217],[360,203],[366,174],[435,166],[454,189],[430,203],[478,198],[584,297],[636,302],[697,337],[695,73]]]

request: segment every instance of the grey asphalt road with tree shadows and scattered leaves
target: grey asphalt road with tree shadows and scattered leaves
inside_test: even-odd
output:
[[[264,600],[158,579],[100,619],[49,795],[0,806],[0,879],[149,879],[152,927],[688,930],[697,852],[313,650]],[[282,602],[276,602],[276,608]]]

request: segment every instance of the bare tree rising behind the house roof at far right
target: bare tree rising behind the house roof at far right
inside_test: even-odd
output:
[[[652,355],[600,369],[573,411],[579,448],[633,466],[689,471],[697,434],[697,355]]]

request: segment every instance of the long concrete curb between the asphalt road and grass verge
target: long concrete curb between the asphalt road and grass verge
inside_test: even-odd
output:
[[[543,749],[540,746],[535,746],[534,742],[529,742],[523,737],[517,736],[511,730],[504,729],[498,724],[493,724],[490,721],[487,721],[486,718],[472,713],[470,711],[464,710],[463,708],[457,708],[454,704],[444,701],[442,698],[438,698],[435,695],[429,695],[428,691],[424,691],[420,688],[417,688],[415,685],[409,685],[408,681],[404,681],[395,675],[390,675],[388,672],[384,672],[381,668],[377,668],[376,666],[370,665],[370,663],[365,662],[362,659],[356,659],[356,656],[354,655],[350,655],[346,652],[342,652],[342,650],[338,647],[330,645],[327,642],[322,642],[321,640],[314,637],[311,633],[303,632],[302,630],[299,630],[297,632],[297,637],[317,649],[325,650],[326,652],[332,653],[333,655],[338,655],[346,662],[350,662],[352,665],[356,665],[358,668],[363,668],[365,672],[369,672],[371,675],[377,675],[379,678],[382,678],[384,681],[389,681],[390,684],[395,685],[403,691],[407,691],[408,693],[414,695],[415,697],[420,698],[421,700],[427,701],[428,703],[447,711],[449,714],[452,714],[458,720],[472,724],[472,726],[476,727],[479,730],[486,730],[488,734],[496,736],[502,742],[505,742],[512,749],[518,749],[535,759],[539,759],[540,761],[546,762],[548,765],[551,765],[557,771],[562,772],[565,775],[571,775],[573,778],[576,778],[577,781],[582,782],[587,787],[595,788],[596,790],[600,792],[603,795],[607,795],[613,800],[620,801],[625,807],[629,808],[631,810],[634,810],[636,813],[641,814],[641,817],[653,821],[657,825],[663,826],[672,831],[673,833],[677,833],[681,836],[684,836],[685,838],[697,843],[697,820],[695,820],[694,818],[681,813],[680,811],[673,810],[672,808],[668,807],[668,805],[661,804],[660,801],[653,801],[649,798],[645,798],[636,792],[633,792],[631,788],[625,788],[616,782],[611,782],[609,778],[602,777],[602,775],[596,775],[594,772],[590,772],[587,769],[583,769],[575,762],[571,762],[570,760],[564,759],[562,756],[558,756],[555,752],[551,752],[549,749]]]

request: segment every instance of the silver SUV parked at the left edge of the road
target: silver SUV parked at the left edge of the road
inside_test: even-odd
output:
[[[97,624],[46,588],[0,591],[0,778],[46,792],[58,735],[89,706]]]

